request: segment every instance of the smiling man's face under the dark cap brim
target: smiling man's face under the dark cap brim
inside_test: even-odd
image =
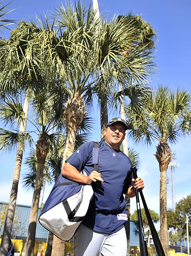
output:
[[[121,123],[114,123],[105,129],[105,142],[114,149],[119,149],[125,138],[125,129]]]

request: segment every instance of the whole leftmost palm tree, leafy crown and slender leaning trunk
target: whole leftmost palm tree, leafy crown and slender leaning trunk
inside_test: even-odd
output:
[[[30,90],[34,85],[37,86],[38,81],[42,78],[39,73],[40,63],[36,58],[39,42],[35,41],[35,44],[33,44],[37,32],[37,27],[32,27],[29,23],[21,21],[16,29],[12,31],[9,40],[2,38],[0,40],[0,99],[1,101],[9,101],[13,97],[12,95],[18,94],[25,99],[23,108],[25,118],[20,123],[20,133],[25,133]],[[6,255],[11,236],[23,150],[24,144],[19,142],[6,217],[6,228],[1,242],[0,252],[2,255]]]

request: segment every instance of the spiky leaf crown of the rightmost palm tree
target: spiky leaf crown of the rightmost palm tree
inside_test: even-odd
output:
[[[130,135],[137,141],[174,143],[191,131],[191,96],[185,90],[172,92],[159,86],[147,95],[145,102],[138,115],[127,109],[129,121],[134,125]]]

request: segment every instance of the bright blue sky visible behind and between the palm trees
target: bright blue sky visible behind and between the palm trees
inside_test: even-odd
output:
[[[4,1],[5,2],[5,1]],[[48,14],[58,7],[61,1],[53,0],[13,0],[9,5],[9,9],[16,9],[8,14],[7,18],[13,20],[32,20],[35,15]],[[63,1],[65,3],[65,1]],[[89,4],[86,0],[83,3]],[[155,53],[155,63],[158,71],[153,76],[151,84],[153,87],[162,84],[170,86],[172,90],[178,87],[191,92],[191,2],[190,0],[98,0],[100,12],[108,16],[110,19],[115,15],[125,15],[129,12],[139,14],[144,20],[149,22],[157,32],[157,43]],[[4,33],[4,36],[7,34]],[[97,120],[97,122],[96,122]],[[95,122],[99,125],[99,113],[95,114]],[[99,140],[97,134],[99,127],[96,127],[92,140]],[[176,145],[171,145],[172,151],[176,153],[176,163],[179,167],[175,168],[174,184],[175,198],[178,202],[183,197],[191,194],[191,137],[181,139]],[[159,213],[159,165],[155,159],[156,145],[147,148],[146,146],[134,145],[133,141],[129,141],[129,147],[134,148],[140,153],[141,167],[138,172],[144,182],[143,190],[148,208]],[[13,179],[15,152],[11,154],[0,155],[0,201],[8,202],[10,189]],[[26,171],[26,167],[22,166],[22,173]],[[167,171],[170,177],[170,170]],[[50,189],[45,189],[44,199],[49,194]],[[31,194],[22,189],[21,182],[19,184],[19,194],[17,203],[30,205],[32,202]],[[171,189],[167,184],[167,207],[171,208]],[[131,199],[131,212],[136,209],[135,199]],[[191,214],[191,213],[190,213]]]

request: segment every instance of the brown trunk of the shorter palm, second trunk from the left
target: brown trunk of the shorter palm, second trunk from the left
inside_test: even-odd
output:
[[[32,198],[32,206],[31,206],[28,234],[27,234],[27,240],[26,240],[25,254],[27,256],[34,255],[38,206],[40,201],[40,192],[43,185],[43,171],[44,171],[45,160],[46,160],[48,151],[49,151],[49,143],[45,139],[40,138],[36,143],[37,174],[36,174],[36,181],[34,185],[34,193]]]

